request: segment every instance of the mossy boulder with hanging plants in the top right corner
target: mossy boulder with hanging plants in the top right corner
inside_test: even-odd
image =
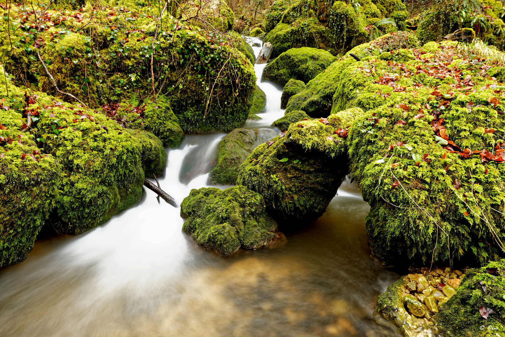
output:
[[[502,4],[495,0],[434,2],[421,13],[416,35],[422,43],[426,43],[440,41],[460,27],[471,28],[484,43],[503,50],[505,24],[502,21],[502,8]]]

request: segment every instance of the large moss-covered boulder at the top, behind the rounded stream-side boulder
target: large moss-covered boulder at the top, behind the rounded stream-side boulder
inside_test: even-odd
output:
[[[365,1],[359,6],[343,1],[277,0],[266,14],[268,34],[264,42],[272,43],[273,56],[301,46],[337,55],[367,42],[379,32],[404,30],[407,16],[405,5],[397,0]],[[391,24],[381,25],[385,21],[380,20],[386,18],[391,19],[387,21]]]

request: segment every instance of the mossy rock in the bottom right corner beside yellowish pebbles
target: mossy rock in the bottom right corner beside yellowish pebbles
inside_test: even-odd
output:
[[[487,273],[486,268],[497,268],[498,275]],[[505,260],[490,262],[480,269],[468,270],[458,287],[458,293],[439,308],[437,327],[440,332],[448,337],[504,336],[504,276]],[[494,313],[484,319],[479,313],[481,306],[493,309]],[[481,326],[484,326],[484,329]],[[488,328],[489,326],[491,329]]]

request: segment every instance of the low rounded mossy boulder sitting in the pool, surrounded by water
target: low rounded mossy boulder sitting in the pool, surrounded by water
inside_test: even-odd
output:
[[[192,189],[181,203],[181,217],[186,219],[182,230],[198,245],[225,256],[279,237],[263,197],[244,186]]]

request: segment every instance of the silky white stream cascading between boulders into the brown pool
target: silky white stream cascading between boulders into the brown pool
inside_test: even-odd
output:
[[[261,78],[264,65],[255,68]],[[245,127],[278,133],[269,125],[283,115],[282,88],[258,84],[266,113]],[[223,136],[187,135],[168,150],[160,184],[178,203],[207,186]],[[179,209],[146,190],[106,224],[39,239],[25,262],[1,270],[0,336],[393,336],[372,312],[398,274],[369,256],[368,210],[344,181],[327,212],[286,233],[285,245],[223,258],[198,247]]]

